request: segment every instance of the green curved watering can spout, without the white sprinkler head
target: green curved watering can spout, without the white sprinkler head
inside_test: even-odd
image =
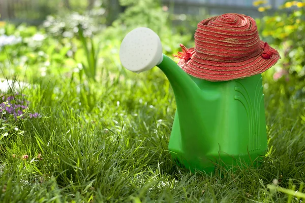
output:
[[[188,157],[204,156],[211,146],[206,126],[208,124],[205,121],[212,118],[204,112],[204,108],[207,108],[208,103],[211,102],[208,94],[196,84],[196,78],[187,74],[168,56],[163,55],[163,61],[157,66],[168,78],[175,95],[177,110],[173,129],[176,130],[172,132],[171,139],[179,140],[181,143],[174,143],[173,146],[178,146],[185,153],[189,153],[189,155],[186,154]]]

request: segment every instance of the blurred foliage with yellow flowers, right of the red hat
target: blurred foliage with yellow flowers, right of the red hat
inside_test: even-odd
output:
[[[261,8],[264,6],[259,10],[265,11]],[[282,58],[273,69],[276,80],[273,86],[275,92],[286,98],[305,98],[304,15],[304,1],[287,1],[275,15],[257,20],[261,37],[281,54]]]

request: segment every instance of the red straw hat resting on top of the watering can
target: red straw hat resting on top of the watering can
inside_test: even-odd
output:
[[[188,74],[210,81],[231,80],[259,74],[281,58],[259,38],[253,18],[228,13],[198,23],[195,48],[174,55]]]

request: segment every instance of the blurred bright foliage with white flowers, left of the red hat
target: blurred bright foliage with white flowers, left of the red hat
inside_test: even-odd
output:
[[[6,24],[0,28],[0,33],[22,40],[2,48],[5,52],[0,53],[0,68],[5,75],[27,78],[70,77],[84,71],[84,75],[95,80],[105,70],[128,74],[119,62],[119,46],[126,33],[139,26],[156,31],[164,53],[169,56],[179,51],[180,43],[193,46],[192,33],[182,35],[176,32],[168,18],[169,13],[162,10],[159,3],[153,0],[136,2],[121,1],[126,10],[111,26],[105,26],[102,12],[98,15],[101,18],[91,15],[94,10],[85,14],[48,16],[39,27]]]

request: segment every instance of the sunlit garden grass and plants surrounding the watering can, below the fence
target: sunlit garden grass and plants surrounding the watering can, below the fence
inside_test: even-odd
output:
[[[269,148],[259,168],[219,166],[214,175],[172,163],[176,106],[168,80],[158,68],[129,72],[118,56],[121,40],[139,26],[159,34],[169,57],[180,43],[194,46],[206,10],[177,14],[173,3],[154,0],[60,2],[39,1],[35,10],[20,4],[0,21],[1,202],[305,198],[304,1],[277,9],[253,2],[261,38],[282,57],[263,73]]]

